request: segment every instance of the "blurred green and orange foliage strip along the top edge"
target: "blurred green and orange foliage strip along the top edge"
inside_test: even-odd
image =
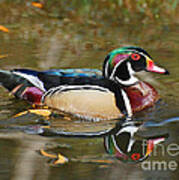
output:
[[[95,21],[110,20],[110,22],[148,22],[159,20],[164,22],[176,22],[178,11],[178,0],[39,0],[39,1],[9,1],[0,2],[3,12],[9,11],[13,6],[13,14],[27,10],[30,2],[36,3],[50,17],[73,18],[84,21],[88,18]],[[36,6],[37,6],[36,5]],[[24,9],[25,8],[25,9]],[[42,13],[44,14],[44,13]],[[26,14],[22,13],[25,17]],[[85,22],[85,21],[84,21]]]

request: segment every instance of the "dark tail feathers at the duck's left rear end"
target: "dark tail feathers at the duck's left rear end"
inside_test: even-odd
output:
[[[0,85],[13,92],[16,97],[20,97],[26,87],[32,86],[27,79],[6,70],[0,70]]]

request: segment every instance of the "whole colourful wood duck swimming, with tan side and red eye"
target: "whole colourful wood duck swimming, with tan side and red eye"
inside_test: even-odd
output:
[[[95,69],[0,71],[0,82],[16,97],[88,120],[116,119],[152,106],[156,90],[134,75],[139,71],[169,74],[139,47],[110,52],[102,75]]]

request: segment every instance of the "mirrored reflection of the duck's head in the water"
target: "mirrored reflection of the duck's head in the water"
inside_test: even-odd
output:
[[[123,162],[136,163],[145,160],[155,145],[165,141],[168,134],[136,137],[141,126],[136,122],[117,124],[110,134],[104,137],[106,151]]]

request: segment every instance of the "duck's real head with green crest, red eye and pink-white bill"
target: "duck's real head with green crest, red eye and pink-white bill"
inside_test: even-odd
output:
[[[154,64],[151,56],[139,47],[122,47],[111,51],[103,64],[103,76],[130,86],[138,82],[134,76],[140,71],[169,74],[169,72]]]

